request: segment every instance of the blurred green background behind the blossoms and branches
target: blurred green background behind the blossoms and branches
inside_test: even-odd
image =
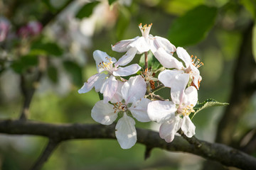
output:
[[[141,36],[139,23],[153,23],[152,35],[168,38],[201,59],[200,102],[207,98],[228,102],[242,31],[255,20],[255,1],[120,0],[89,4],[82,0],[0,0],[0,21],[9,24],[0,42],[0,118],[19,117],[23,106],[21,77],[29,88],[43,56],[47,64],[36,84],[28,118],[47,123],[95,123],[90,111],[100,100],[98,94],[93,90],[78,94],[83,82],[97,72],[92,52],[102,50],[122,57],[111,45]],[[42,29],[22,32],[31,21],[41,23]],[[139,62],[139,57],[133,62]],[[166,91],[159,94],[168,97]],[[255,95],[249,106],[240,120],[238,137],[255,128]],[[223,109],[208,108],[193,118],[198,139],[214,141]],[[137,123],[137,127],[159,128],[154,123]],[[28,169],[36,161],[47,140],[0,135],[0,143],[1,169],[18,170]],[[144,150],[140,144],[121,149],[116,140],[72,140],[61,143],[43,169],[200,169],[203,162],[201,157],[161,149],[154,149],[145,161]]]

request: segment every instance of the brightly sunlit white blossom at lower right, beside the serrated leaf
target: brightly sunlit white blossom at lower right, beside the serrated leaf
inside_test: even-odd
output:
[[[193,106],[198,101],[197,90],[189,86],[183,93],[182,98],[172,98],[173,101],[152,101],[148,105],[147,112],[152,121],[161,123],[159,135],[166,142],[174,140],[174,135],[181,128],[187,137],[196,134],[196,126],[193,125],[189,115]]]

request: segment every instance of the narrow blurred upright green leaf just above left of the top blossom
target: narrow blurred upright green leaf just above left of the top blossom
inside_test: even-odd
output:
[[[119,16],[117,21],[116,35],[119,40],[122,40],[125,30],[127,30],[131,20],[131,13],[124,6],[119,8]]]

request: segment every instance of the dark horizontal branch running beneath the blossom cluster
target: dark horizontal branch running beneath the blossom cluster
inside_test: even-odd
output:
[[[9,135],[40,135],[58,141],[73,139],[115,139],[114,125],[85,124],[49,124],[21,120],[0,120],[0,133]],[[197,140],[196,137],[192,140]],[[256,159],[248,154],[218,143],[197,140],[201,146],[195,146],[175,137],[171,143],[166,143],[158,132],[137,128],[137,142],[148,148],[158,147],[174,152],[188,152],[220,162],[225,166],[235,166],[240,169],[256,169]]]

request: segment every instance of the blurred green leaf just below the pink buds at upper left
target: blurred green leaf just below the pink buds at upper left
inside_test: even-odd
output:
[[[54,42],[35,42],[31,46],[30,54],[60,57],[63,55],[63,49]]]

